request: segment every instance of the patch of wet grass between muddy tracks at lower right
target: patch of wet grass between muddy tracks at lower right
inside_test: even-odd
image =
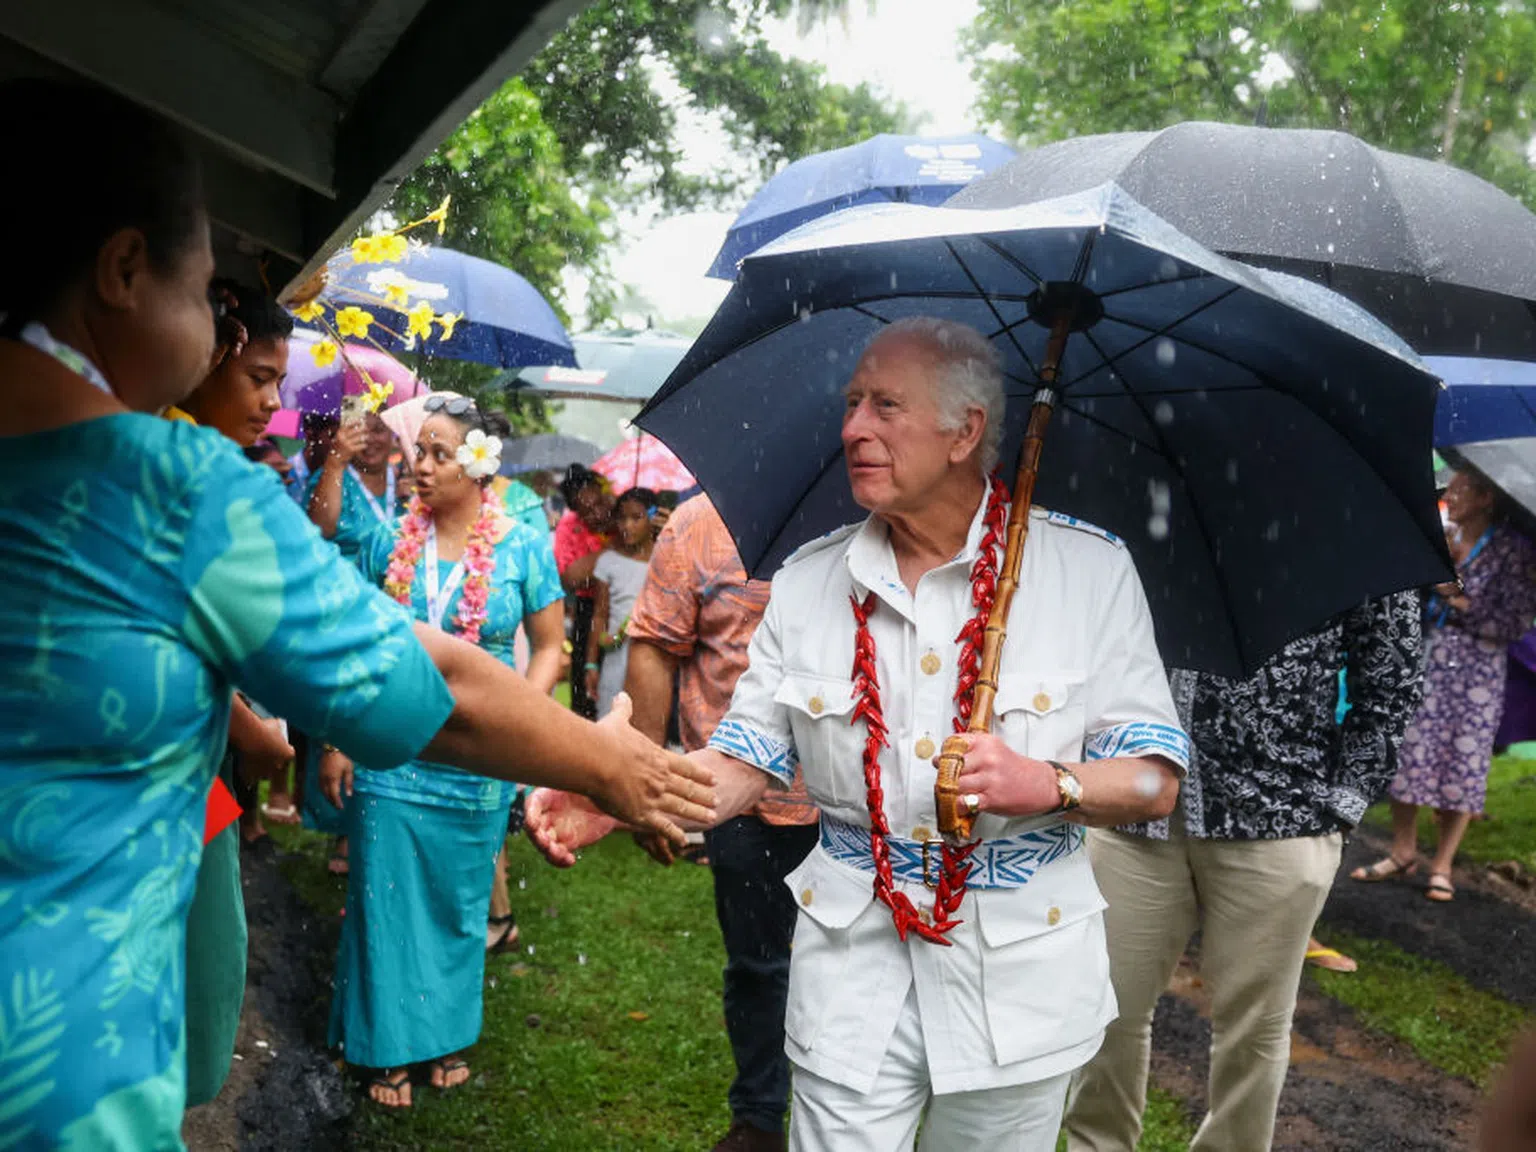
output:
[[[1533,1023],[1530,1012],[1473,988],[1445,965],[1329,925],[1321,932],[1355,957],[1359,971],[1309,969],[1318,988],[1442,1072],[1487,1086],[1516,1035]]]

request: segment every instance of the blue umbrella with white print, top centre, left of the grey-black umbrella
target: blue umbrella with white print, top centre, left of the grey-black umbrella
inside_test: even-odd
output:
[[[731,221],[708,275],[733,280],[736,264],[770,240],[839,209],[880,201],[942,204],[1014,149],[989,137],[897,137],[796,160],[763,184]]]

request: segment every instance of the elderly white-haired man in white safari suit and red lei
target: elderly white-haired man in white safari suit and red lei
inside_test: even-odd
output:
[[[978,842],[946,849],[934,770],[958,731],[1003,558],[997,352],[940,319],[891,324],[846,392],[862,524],[777,573],[731,710],[694,756],[720,819],[803,768],[820,843],[785,1018],[790,1146],[803,1152],[1049,1152],[1072,1071],[1115,1015],[1081,825],[1170,811],[1186,762],[1146,598],[1124,545],[1069,516],[1032,522],[994,733],[960,788]],[[568,863],[611,823],[536,794],[530,828]],[[926,1109],[926,1118],[925,1118]]]

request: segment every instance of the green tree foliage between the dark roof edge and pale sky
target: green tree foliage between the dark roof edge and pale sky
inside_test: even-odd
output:
[[[822,69],[774,52],[768,15],[803,22],[846,0],[599,0],[508,80],[395,194],[396,220],[453,197],[444,243],[515,269],[568,321],[562,270],[588,280],[588,313],[610,313],[617,289],[605,264],[611,204],[668,210],[739,194],[742,170],[691,170],[677,143],[668,81],[717,114],[748,172],[902,131],[909,117],[866,86],[825,81]],[[751,177],[748,177],[751,178]],[[502,373],[452,359],[413,364],[435,387],[499,401]],[[548,427],[536,399],[508,413],[519,432]]]

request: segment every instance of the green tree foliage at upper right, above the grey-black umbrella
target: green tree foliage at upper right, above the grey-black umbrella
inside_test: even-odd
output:
[[[1338,127],[1536,206],[1527,0],[982,0],[982,112],[1031,143],[1180,120]],[[1273,57],[1293,74],[1263,83]]]

